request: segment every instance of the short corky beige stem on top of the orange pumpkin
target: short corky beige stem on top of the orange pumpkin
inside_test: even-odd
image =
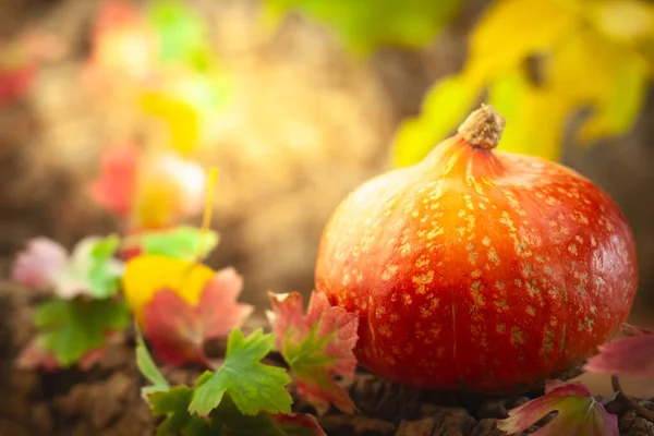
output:
[[[499,144],[506,120],[493,106],[482,104],[459,128],[459,134],[474,148],[493,149]]]

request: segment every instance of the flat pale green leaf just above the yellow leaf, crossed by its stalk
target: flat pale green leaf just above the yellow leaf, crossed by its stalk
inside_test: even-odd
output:
[[[199,258],[206,257],[218,245],[218,241],[216,231],[208,230],[203,233],[202,229],[195,227],[179,226],[173,229],[141,233],[131,238],[129,244],[141,246],[143,254],[192,261],[198,250],[201,250]]]

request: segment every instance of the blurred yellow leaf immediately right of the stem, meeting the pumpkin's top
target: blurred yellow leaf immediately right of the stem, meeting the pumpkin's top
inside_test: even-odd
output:
[[[514,69],[491,83],[489,104],[507,119],[498,149],[557,161],[569,108],[546,86]]]

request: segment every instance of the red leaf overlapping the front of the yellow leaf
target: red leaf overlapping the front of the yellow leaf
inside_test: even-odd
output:
[[[242,288],[241,276],[226,268],[206,282],[195,305],[171,289],[157,291],[143,312],[144,332],[157,356],[174,366],[192,362],[209,366],[205,341],[227,336],[253,311],[249,304],[237,303]]]

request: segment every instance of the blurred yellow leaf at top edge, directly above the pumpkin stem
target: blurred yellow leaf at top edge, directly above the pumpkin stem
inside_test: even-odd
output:
[[[525,57],[548,51],[578,22],[565,0],[498,0],[471,35],[465,70],[487,78],[511,70]]]

